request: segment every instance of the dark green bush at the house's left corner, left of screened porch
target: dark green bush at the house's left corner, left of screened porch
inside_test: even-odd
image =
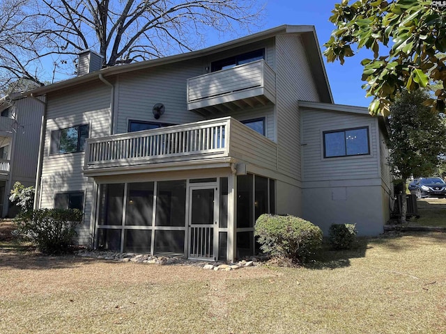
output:
[[[22,212],[15,221],[17,230],[31,239],[42,253],[67,253],[76,226],[82,221],[77,209],[38,209]]]

